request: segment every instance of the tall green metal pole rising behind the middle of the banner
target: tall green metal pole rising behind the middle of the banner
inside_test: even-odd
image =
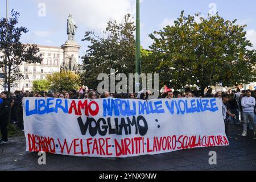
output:
[[[135,85],[139,85],[139,75],[141,74],[141,20],[140,20],[140,7],[139,1],[136,0],[136,56],[135,56],[135,65],[136,65],[136,76],[135,76]]]

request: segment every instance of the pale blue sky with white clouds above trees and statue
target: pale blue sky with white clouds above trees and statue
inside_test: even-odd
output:
[[[5,16],[5,2],[0,0],[0,15]],[[60,47],[68,39],[67,18],[73,14],[78,24],[76,40],[84,54],[88,43],[82,42],[85,31],[93,30],[102,35],[110,19],[121,21],[127,13],[135,17],[135,0],[9,0],[9,10],[20,13],[20,26],[30,32],[22,36],[23,43]],[[46,7],[44,16],[42,10]],[[238,24],[247,24],[247,38],[256,49],[256,1],[254,0],[141,0],[141,43],[147,48],[152,42],[148,34],[172,24],[182,10],[185,14],[208,13],[217,10],[225,19],[238,19]]]

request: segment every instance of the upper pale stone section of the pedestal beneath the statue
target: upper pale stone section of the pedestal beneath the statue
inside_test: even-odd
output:
[[[79,62],[79,49],[81,46],[77,44],[74,40],[68,40],[65,42],[64,45],[61,46],[61,49],[63,49],[63,61],[64,63],[69,64],[70,57],[72,55],[75,56],[77,64]]]

